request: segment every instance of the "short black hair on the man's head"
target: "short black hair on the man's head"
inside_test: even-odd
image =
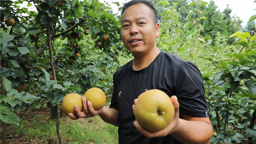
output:
[[[155,22],[155,24],[156,24],[157,21],[158,21],[157,11],[156,11],[155,7],[153,6],[153,4],[151,4],[151,2],[148,1],[148,0],[132,0],[132,1],[130,1],[130,2],[126,3],[126,4],[124,4],[123,10],[122,10],[122,14],[121,14],[121,20],[122,20],[124,11],[125,11],[128,7],[130,7],[130,6],[132,6],[132,5],[135,5],[135,4],[140,4],[140,3],[141,3],[141,4],[146,4],[146,5],[153,11],[153,13],[154,13],[154,22]]]

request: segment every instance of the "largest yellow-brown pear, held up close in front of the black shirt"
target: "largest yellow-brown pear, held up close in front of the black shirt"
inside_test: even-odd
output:
[[[139,95],[134,115],[142,127],[151,132],[158,132],[171,123],[174,106],[165,92],[152,89]]]

